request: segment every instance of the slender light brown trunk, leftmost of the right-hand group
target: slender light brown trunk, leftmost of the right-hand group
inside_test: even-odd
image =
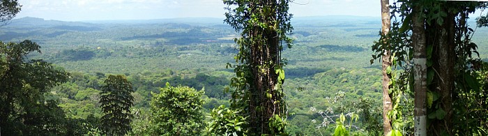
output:
[[[386,39],[383,39],[383,41],[388,41],[388,33],[390,32],[390,1],[389,0],[381,0],[381,33],[383,33],[384,37]],[[390,133],[391,131],[391,121],[388,119],[388,112],[392,110],[392,103],[391,103],[391,97],[390,94],[388,93],[388,89],[390,89],[390,77],[388,77],[388,73],[386,73],[386,68],[391,66],[391,61],[390,61],[390,56],[391,56],[391,51],[388,50],[388,47],[390,47],[390,43],[386,42],[386,50],[383,52],[382,58],[382,65],[381,65],[381,70],[383,72],[383,132],[385,135]]]

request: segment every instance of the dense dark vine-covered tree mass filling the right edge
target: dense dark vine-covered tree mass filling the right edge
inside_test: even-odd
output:
[[[393,54],[393,65],[388,68],[392,77],[389,93],[396,99],[388,114],[392,128],[407,135],[485,135],[482,133],[487,130],[485,126],[462,123],[478,119],[464,116],[468,113],[464,110],[468,104],[464,99],[478,98],[468,96],[468,92],[482,92],[476,80],[482,78],[476,74],[482,65],[475,56],[480,54],[478,45],[473,43],[474,30],[469,27],[468,15],[477,8],[486,8],[486,3],[397,2],[392,6],[392,31],[372,47],[374,59],[384,50]],[[402,67],[400,73],[397,66]],[[415,130],[411,130],[413,125],[409,121],[412,98]]]

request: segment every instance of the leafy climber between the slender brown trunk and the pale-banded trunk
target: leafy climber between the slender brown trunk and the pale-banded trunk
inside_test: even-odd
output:
[[[413,92],[410,87],[411,80],[411,59],[413,48],[411,46],[411,26],[409,24],[409,14],[411,9],[409,3],[399,4],[395,1],[390,6],[390,15],[392,25],[389,33],[379,32],[381,38],[372,45],[371,63],[375,59],[381,59],[382,54],[387,51],[391,52],[390,62],[391,66],[386,68],[386,74],[390,77],[388,82],[388,94],[392,100],[392,110],[387,113],[388,119],[391,121],[392,131],[396,133],[401,131],[404,134],[411,132],[413,126]],[[400,70],[399,70],[400,69]],[[413,82],[412,82],[413,83]],[[409,95],[410,94],[410,95]]]

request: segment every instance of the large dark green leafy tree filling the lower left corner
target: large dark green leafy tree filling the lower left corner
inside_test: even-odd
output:
[[[25,61],[40,46],[30,40],[0,43],[0,127],[2,135],[82,135],[82,123],[96,119],[71,119],[52,99],[54,86],[69,74],[42,60]]]

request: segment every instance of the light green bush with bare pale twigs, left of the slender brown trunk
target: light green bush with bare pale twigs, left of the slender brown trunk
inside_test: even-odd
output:
[[[310,107],[310,111],[319,115],[322,122],[316,125],[318,133],[323,135],[383,135],[381,130],[381,109],[374,106],[374,100],[359,98],[350,100],[344,92],[335,93],[333,98],[327,98],[329,107],[318,110]],[[317,111],[318,110],[318,111]],[[345,115],[344,115],[345,113]],[[348,118],[346,120],[346,118]],[[313,119],[312,123],[317,122]],[[335,126],[335,128],[333,128]],[[310,133],[308,133],[310,134]]]

